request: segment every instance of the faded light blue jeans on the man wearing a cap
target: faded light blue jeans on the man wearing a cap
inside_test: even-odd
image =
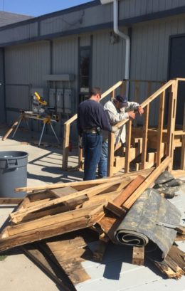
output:
[[[108,141],[102,142],[102,153],[98,164],[98,177],[107,176]]]

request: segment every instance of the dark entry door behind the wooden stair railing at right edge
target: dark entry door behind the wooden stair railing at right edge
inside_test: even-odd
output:
[[[185,78],[185,36],[175,36],[170,41],[169,79]],[[176,125],[182,125],[184,117],[185,81],[179,82],[176,105]]]

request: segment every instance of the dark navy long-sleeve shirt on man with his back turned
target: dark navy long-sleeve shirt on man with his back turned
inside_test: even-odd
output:
[[[112,127],[102,105],[95,100],[85,100],[78,106],[78,134],[84,129],[100,127],[100,129],[111,132]]]

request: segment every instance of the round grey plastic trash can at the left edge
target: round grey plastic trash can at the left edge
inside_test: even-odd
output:
[[[15,193],[16,187],[27,185],[28,154],[26,152],[0,152],[0,197],[23,197],[26,192]]]

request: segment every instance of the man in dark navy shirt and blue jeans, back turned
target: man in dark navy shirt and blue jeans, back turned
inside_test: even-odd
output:
[[[83,138],[84,180],[95,179],[97,164],[102,151],[102,130],[114,132],[100,104],[101,91],[95,87],[90,98],[78,106],[78,134]]]

